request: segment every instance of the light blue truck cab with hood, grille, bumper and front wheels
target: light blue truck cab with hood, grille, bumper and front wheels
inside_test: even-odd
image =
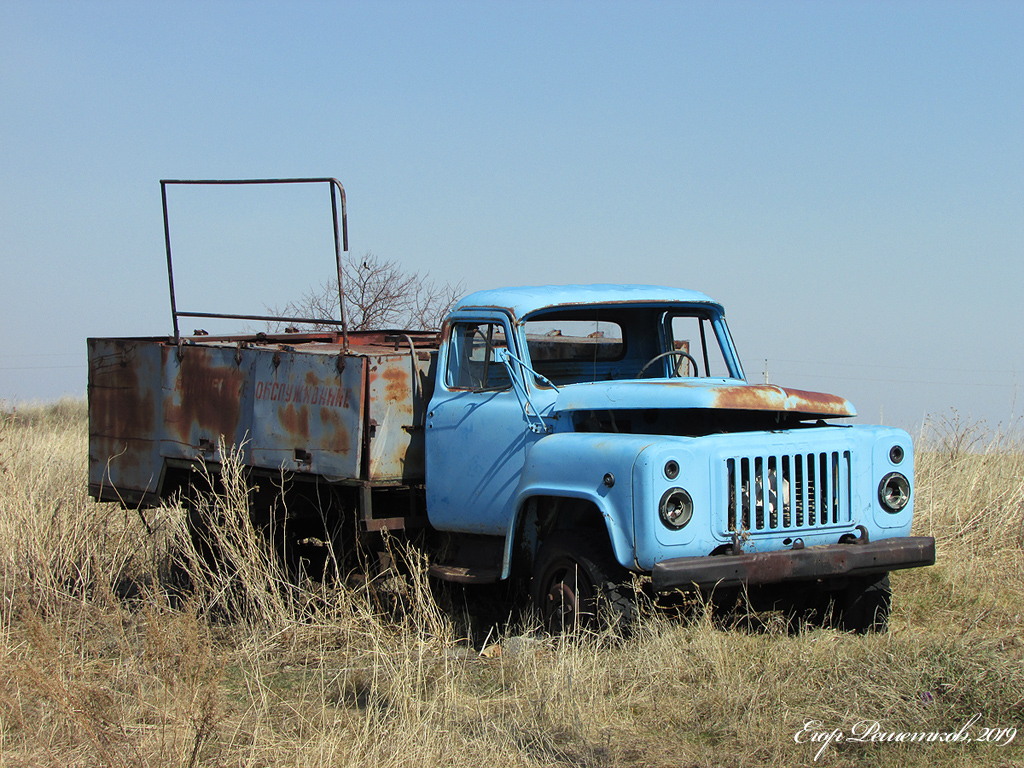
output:
[[[877,627],[888,572],[934,562],[934,541],[909,537],[909,435],[842,421],[855,415],[749,383],[697,292],[472,294],[444,325],[427,409],[427,515],[454,553],[433,572],[528,574],[549,625],[589,618],[602,592],[628,613],[640,574],[657,592],[813,588]]]

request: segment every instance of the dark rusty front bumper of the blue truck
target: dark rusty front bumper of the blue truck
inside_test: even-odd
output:
[[[933,538],[904,537],[775,552],[677,557],[655,563],[651,581],[656,592],[668,592],[689,587],[710,589],[866,575],[934,563]]]

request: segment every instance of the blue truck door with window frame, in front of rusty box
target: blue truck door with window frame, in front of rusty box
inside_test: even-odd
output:
[[[499,350],[515,350],[502,312],[457,313],[438,359],[427,412],[427,516],[434,527],[505,535],[527,427]]]

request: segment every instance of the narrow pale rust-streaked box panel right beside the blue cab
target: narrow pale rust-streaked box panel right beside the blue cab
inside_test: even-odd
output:
[[[428,352],[419,352],[415,364],[409,352],[368,356],[371,435],[368,479],[423,481],[424,409],[433,390],[435,358]]]

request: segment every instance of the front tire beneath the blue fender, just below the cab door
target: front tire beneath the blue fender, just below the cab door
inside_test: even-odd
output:
[[[630,572],[603,534],[556,531],[537,554],[530,597],[552,634],[602,626],[626,628],[636,618]]]

